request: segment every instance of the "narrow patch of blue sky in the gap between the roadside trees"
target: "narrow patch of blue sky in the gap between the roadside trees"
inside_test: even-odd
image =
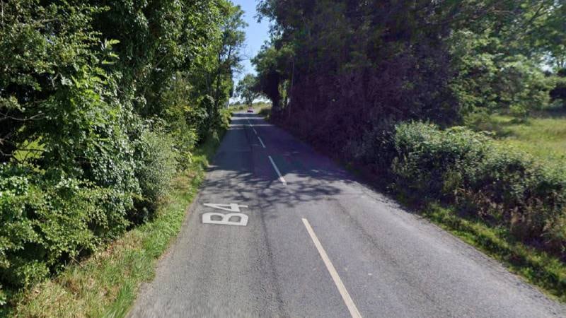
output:
[[[258,23],[258,19],[255,18],[255,0],[232,0],[233,4],[239,4],[242,10],[245,12],[243,19],[248,23],[246,28],[246,47],[243,49],[243,55],[245,60],[243,61],[243,72],[236,74],[234,80],[236,83],[240,78],[242,78],[246,73],[255,73],[250,59],[258,54],[263,42],[269,40],[269,21],[263,19],[261,23]]]

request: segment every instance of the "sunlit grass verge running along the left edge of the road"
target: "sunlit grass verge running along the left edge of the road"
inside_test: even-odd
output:
[[[140,283],[154,277],[156,261],[178,235],[223,134],[213,134],[195,150],[190,168],[173,179],[154,220],[57,277],[13,295],[12,306],[0,317],[124,317]]]

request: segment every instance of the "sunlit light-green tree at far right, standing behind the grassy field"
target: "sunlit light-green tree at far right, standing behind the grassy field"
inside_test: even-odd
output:
[[[450,86],[464,116],[505,112],[525,117],[548,105],[552,78],[543,64],[560,65],[561,1],[487,3],[485,13],[451,24]],[[563,20],[563,18],[561,19]],[[561,22],[563,25],[563,21]]]

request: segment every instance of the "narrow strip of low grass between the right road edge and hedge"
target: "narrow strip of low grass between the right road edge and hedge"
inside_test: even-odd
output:
[[[507,229],[462,218],[454,207],[429,203],[421,212],[444,230],[501,261],[509,271],[536,285],[550,298],[566,302],[566,264],[557,257],[513,240]]]

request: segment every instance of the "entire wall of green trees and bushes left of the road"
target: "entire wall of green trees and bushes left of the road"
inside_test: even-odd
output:
[[[154,216],[175,170],[226,124],[245,23],[224,0],[1,11],[0,284],[12,293]]]

